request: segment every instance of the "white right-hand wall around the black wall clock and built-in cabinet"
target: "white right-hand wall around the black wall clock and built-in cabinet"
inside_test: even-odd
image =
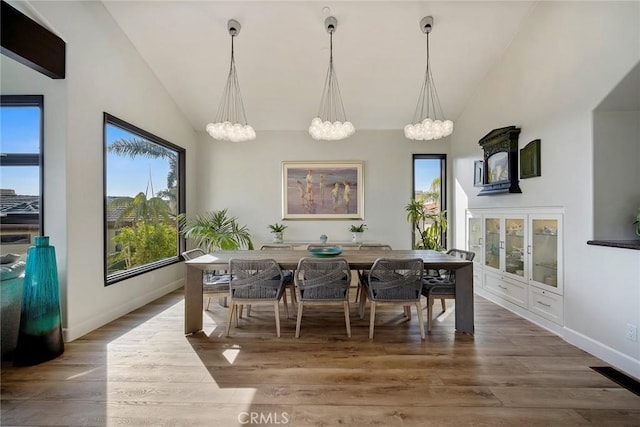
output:
[[[564,337],[636,377],[640,346],[624,332],[640,324],[640,251],[586,242],[593,238],[592,111],[640,59],[639,17],[638,2],[538,2],[452,136],[456,244],[464,245],[466,206],[565,207]],[[522,128],[520,148],[542,140],[542,176],[520,181],[519,195],[477,197],[477,141],[507,125]]]

